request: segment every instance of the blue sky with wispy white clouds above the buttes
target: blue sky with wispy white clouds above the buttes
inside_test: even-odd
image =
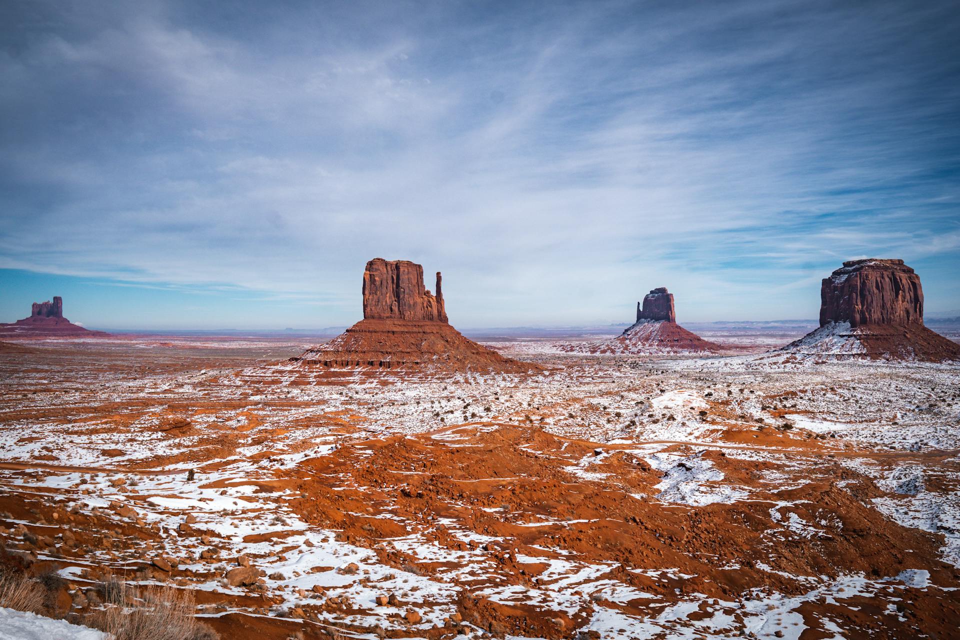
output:
[[[960,5],[0,3],[0,321],[816,318],[844,260],[960,309]],[[432,287],[432,278],[427,278]],[[960,311],[956,311],[960,315]]]

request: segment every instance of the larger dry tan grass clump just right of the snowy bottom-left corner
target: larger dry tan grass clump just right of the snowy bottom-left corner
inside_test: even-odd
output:
[[[112,640],[218,640],[213,629],[194,617],[193,593],[185,589],[150,586],[136,598],[124,582],[107,586],[108,604],[91,624]]]

